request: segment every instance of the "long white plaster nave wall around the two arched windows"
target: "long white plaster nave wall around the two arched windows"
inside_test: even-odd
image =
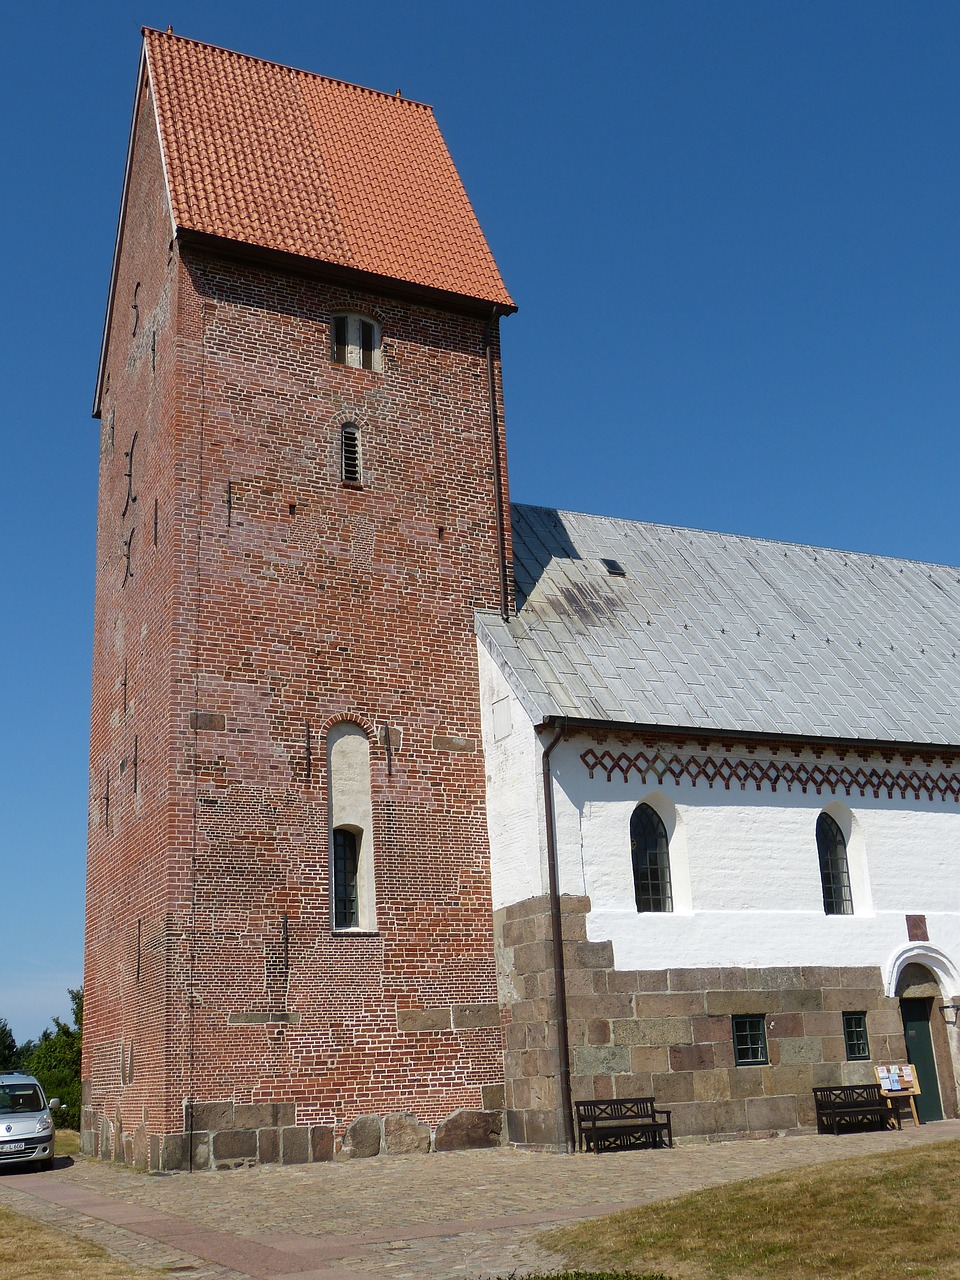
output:
[[[904,916],[924,914],[931,946],[960,968],[960,805],[952,800],[806,795],[645,785],[554,754],[561,891],[588,893],[591,940],[613,942],[618,968],[881,965],[906,945]],[[616,750],[620,750],[617,748]],[[810,756],[810,763],[814,758]],[[820,763],[829,763],[822,758]],[[667,826],[675,910],[636,910],[630,815],[652,804]],[[847,837],[854,915],[824,915],[817,817]]]

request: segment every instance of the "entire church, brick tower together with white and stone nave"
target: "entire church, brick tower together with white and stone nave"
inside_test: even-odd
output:
[[[957,1115],[960,571],[511,504],[430,108],[143,32],[100,420],[82,1149]]]

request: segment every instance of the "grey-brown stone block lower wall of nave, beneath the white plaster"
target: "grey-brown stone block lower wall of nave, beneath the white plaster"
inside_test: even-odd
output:
[[[678,1137],[765,1137],[814,1124],[815,1085],[874,1083],[876,1062],[905,1060],[899,1001],[883,995],[878,968],[620,970],[612,943],[586,938],[589,899],[561,904],[575,1100],[653,1094],[672,1110]],[[557,1146],[548,899],[500,909],[495,933],[507,1132],[525,1146]],[[869,1061],[846,1060],[844,1011],[867,1014]],[[735,1014],[764,1015],[768,1065],[735,1065]]]

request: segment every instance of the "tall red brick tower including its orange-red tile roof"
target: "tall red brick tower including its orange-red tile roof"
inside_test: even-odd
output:
[[[101,420],[83,1149],[499,1140],[498,320],[429,108],[145,32]]]

